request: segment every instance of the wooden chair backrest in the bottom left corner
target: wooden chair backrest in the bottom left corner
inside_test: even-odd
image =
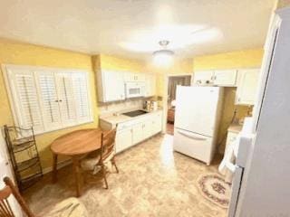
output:
[[[24,202],[23,197],[18,192],[17,188],[14,186],[10,178],[4,178],[5,187],[0,190],[0,216],[1,217],[15,217],[11,205],[8,201],[10,195],[14,195],[14,198],[21,206],[22,210],[28,217],[35,217],[34,213],[31,212],[29,207]]]

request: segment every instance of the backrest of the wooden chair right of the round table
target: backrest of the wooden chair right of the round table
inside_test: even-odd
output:
[[[102,133],[102,151],[101,160],[106,160],[115,151],[115,138],[117,127],[111,129],[109,132]]]

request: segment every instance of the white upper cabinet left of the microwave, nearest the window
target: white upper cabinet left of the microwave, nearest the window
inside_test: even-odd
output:
[[[125,99],[125,83],[122,71],[101,71],[98,73],[98,80],[100,101],[110,102]]]

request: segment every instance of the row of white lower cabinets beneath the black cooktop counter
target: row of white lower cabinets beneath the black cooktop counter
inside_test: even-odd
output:
[[[116,134],[116,153],[134,146],[141,141],[160,133],[162,112],[147,114],[146,117],[121,123]]]

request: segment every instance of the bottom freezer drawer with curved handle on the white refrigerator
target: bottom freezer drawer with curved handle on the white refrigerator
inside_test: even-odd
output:
[[[212,137],[205,137],[179,128],[174,128],[173,148],[184,155],[210,164]]]

